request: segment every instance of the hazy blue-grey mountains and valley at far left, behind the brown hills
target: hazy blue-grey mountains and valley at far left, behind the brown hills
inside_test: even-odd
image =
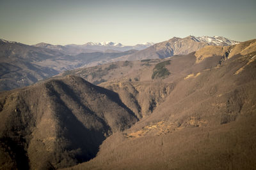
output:
[[[68,47],[42,43],[48,48],[0,40],[0,91],[31,85],[54,76],[61,71],[87,66],[93,62],[106,62],[113,57],[136,52],[85,52],[72,48],[78,55],[67,55]],[[60,50],[56,49],[60,48]],[[97,65],[97,63],[96,63]]]

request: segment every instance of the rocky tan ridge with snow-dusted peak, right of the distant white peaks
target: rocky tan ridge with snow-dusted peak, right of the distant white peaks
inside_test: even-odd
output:
[[[195,52],[204,46],[230,46],[239,43],[221,36],[188,36],[186,38],[173,37],[168,41],[156,43],[144,50],[133,53],[132,55],[122,56],[117,60],[143,60],[143,59],[164,59],[173,55],[186,55]]]

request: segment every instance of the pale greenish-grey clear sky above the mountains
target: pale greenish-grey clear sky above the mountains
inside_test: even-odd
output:
[[[0,38],[28,45],[135,45],[189,35],[246,41],[256,38],[255,9],[255,0],[0,0]]]

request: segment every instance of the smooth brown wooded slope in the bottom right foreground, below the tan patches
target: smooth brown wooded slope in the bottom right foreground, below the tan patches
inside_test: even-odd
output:
[[[254,122],[255,117],[141,138],[115,134],[101,146],[108,151],[100,149],[96,159],[72,169],[253,169]],[[120,144],[109,145],[113,141]]]

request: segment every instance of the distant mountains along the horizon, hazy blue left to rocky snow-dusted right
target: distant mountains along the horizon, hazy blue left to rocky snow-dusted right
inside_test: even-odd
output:
[[[218,36],[188,36],[135,46],[113,42],[66,46],[39,43],[29,46],[1,39],[0,91],[31,85],[77,67],[97,66],[118,60],[163,59],[172,55],[188,54],[204,46],[236,43],[238,42]],[[146,48],[147,46],[149,47]],[[140,51],[134,50],[143,48],[145,49]],[[122,52],[123,50],[128,51]]]

